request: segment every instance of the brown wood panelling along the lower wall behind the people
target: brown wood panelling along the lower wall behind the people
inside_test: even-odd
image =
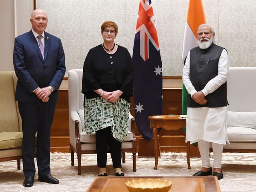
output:
[[[182,111],[182,89],[163,89],[163,114],[181,114]],[[131,114],[134,114],[134,99],[131,97]],[[68,90],[59,90],[59,100],[55,111],[51,131],[51,152],[70,152],[69,143],[69,113],[68,113]],[[140,146],[140,132],[136,128],[137,146]],[[183,129],[176,131],[161,130],[161,151],[185,152],[185,133]],[[153,150],[153,149],[152,149]],[[192,156],[194,148],[192,146]],[[195,148],[195,153],[197,149]],[[195,155],[198,156],[198,155]]]

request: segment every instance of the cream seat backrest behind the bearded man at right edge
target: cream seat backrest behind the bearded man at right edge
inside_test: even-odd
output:
[[[227,78],[229,111],[256,111],[256,67],[230,67]]]

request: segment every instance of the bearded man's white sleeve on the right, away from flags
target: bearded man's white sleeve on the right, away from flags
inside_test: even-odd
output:
[[[209,93],[214,92],[218,87],[227,81],[228,76],[228,62],[227,62],[227,51],[223,49],[218,62],[218,75],[211,79],[204,87],[202,92],[205,96]]]

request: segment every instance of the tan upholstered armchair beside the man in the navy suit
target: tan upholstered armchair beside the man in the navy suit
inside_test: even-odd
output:
[[[23,134],[15,102],[16,83],[14,71],[0,71],[0,161],[17,160],[20,170]]]

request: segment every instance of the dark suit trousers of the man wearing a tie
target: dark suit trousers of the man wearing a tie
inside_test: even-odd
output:
[[[22,163],[25,177],[35,176],[35,134],[37,132],[38,176],[50,171],[50,134],[56,101],[26,103],[18,102],[22,119]]]

